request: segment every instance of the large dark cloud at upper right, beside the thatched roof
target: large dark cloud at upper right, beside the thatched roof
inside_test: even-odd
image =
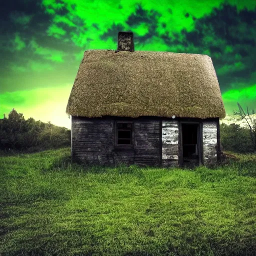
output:
[[[243,86],[248,82],[256,83],[251,76],[256,66],[255,11],[238,11],[235,6],[224,4],[221,8],[214,8],[210,15],[197,19],[193,31],[181,32],[184,40],[194,45],[196,53],[209,50],[222,91],[228,90],[234,82],[243,82]],[[243,68],[237,60],[237,53]],[[222,72],[225,66],[227,68]]]

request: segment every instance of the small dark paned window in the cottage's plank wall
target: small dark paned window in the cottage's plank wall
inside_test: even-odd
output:
[[[132,145],[132,123],[116,122],[116,144]]]

